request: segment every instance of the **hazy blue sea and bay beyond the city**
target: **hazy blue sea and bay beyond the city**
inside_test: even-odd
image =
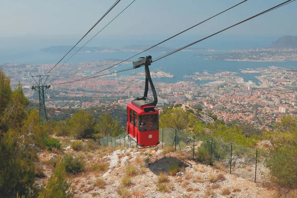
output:
[[[195,72],[202,73],[207,72],[218,72],[218,71],[231,71],[237,72],[237,76],[240,76],[244,81],[251,80],[252,82],[258,83],[255,76],[257,73],[245,74],[241,73],[239,69],[255,69],[255,68],[267,68],[269,66],[285,67],[285,68],[297,68],[297,61],[285,61],[285,62],[250,62],[250,61],[226,61],[226,60],[209,60],[207,57],[196,56],[198,54],[213,54],[213,53],[224,53],[228,49],[250,49],[268,47],[270,41],[259,42],[259,41],[246,41],[246,42],[233,42],[228,44],[227,42],[217,42],[217,45],[210,45],[212,49],[219,51],[179,51],[170,56],[167,56],[161,60],[153,62],[150,65],[150,70],[160,69],[161,71],[173,74],[173,78],[159,78],[154,81],[164,83],[175,83],[178,81],[194,81],[192,78],[184,78],[184,75],[193,75]],[[199,47],[199,46],[198,46]],[[207,48],[206,46],[203,46]],[[126,59],[137,52],[101,52],[101,53],[77,53],[67,63],[79,63],[79,62],[91,62],[96,60],[104,59]],[[70,53],[72,55],[73,53]],[[151,55],[152,58],[158,57],[163,53],[144,53],[133,58],[136,60],[140,56]],[[19,64],[53,64],[56,63],[64,53],[50,53],[44,52],[40,49],[0,49],[0,64],[3,63],[19,63]],[[69,57],[69,56],[67,56]],[[66,58],[67,58],[66,57]],[[63,61],[62,61],[63,62]],[[131,64],[123,64],[115,67],[115,70],[121,70],[125,68],[131,68]],[[130,70],[119,73],[119,75],[129,75],[132,72],[144,71],[144,68],[138,68],[136,70]],[[210,81],[197,81],[198,84],[205,84]]]

